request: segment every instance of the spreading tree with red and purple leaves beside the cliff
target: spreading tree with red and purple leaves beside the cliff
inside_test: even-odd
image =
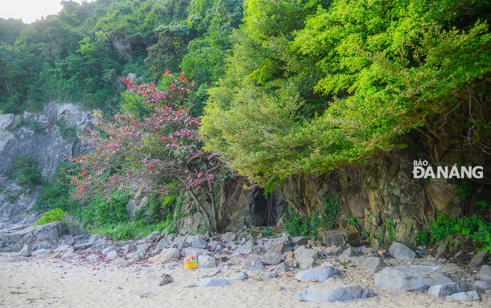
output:
[[[202,149],[198,134],[201,118],[191,116],[185,107],[194,83],[182,73],[173,77],[167,71],[166,75],[173,81],[167,91],[157,90],[152,83],[132,83],[123,78],[131,91],[142,96],[151,112],[143,117],[119,113],[112,119],[96,114],[96,127],[87,128],[80,135],[88,148],[95,150],[72,157],[78,166],[70,171],[79,171],[72,176],[75,195],[88,198],[100,192],[109,198],[114,190],[136,187],[145,192],[186,189],[210,229],[217,231],[213,186],[230,172],[222,171],[216,153]],[[164,184],[154,185],[156,178]],[[170,184],[176,182],[178,186]]]

